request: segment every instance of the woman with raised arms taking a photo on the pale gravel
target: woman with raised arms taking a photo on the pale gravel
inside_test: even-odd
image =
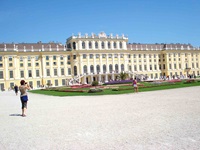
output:
[[[29,85],[24,81],[20,81],[19,91],[20,91],[20,100],[22,103],[22,117],[26,117],[26,109],[27,109],[27,102],[28,102],[28,94],[27,90],[30,89]]]

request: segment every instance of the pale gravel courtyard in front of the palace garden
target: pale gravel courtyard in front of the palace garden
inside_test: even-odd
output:
[[[0,92],[0,150],[198,150],[200,86],[112,96]]]

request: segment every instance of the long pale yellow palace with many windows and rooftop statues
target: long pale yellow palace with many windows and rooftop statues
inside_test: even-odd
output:
[[[0,90],[26,80],[33,88],[105,83],[121,72],[145,79],[200,73],[200,48],[190,44],[128,43],[124,35],[71,36],[60,43],[1,43]]]

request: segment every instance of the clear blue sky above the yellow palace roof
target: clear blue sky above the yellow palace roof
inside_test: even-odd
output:
[[[61,42],[104,31],[129,43],[200,46],[199,0],[0,0],[0,43]]]

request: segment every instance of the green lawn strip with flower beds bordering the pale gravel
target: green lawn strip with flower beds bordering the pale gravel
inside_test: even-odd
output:
[[[139,92],[146,92],[146,91],[155,91],[155,90],[165,90],[165,89],[174,89],[174,88],[184,88],[184,87],[190,87],[190,86],[200,86],[200,81],[196,81],[194,83],[185,83],[185,81],[182,82],[176,82],[176,83],[162,83],[160,84],[152,84],[147,82],[140,82],[139,86]],[[127,93],[133,93],[133,87],[131,84],[129,85],[114,85],[112,86],[104,86],[109,87],[107,89],[103,89],[103,92],[98,93],[88,93],[90,88],[78,88],[78,89],[71,89],[67,87],[58,87],[58,88],[49,88],[46,90],[32,90],[31,93],[37,93],[37,94],[44,94],[44,95],[52,95],[52,96],[93,96],[93,95],[115,95],[115,94],[127,94]],[[117,88],[117,90],[113,90]],[[63,92],[65,90],[76,90],[77,92]],[[84,91],[84,92],[79,92]]]

